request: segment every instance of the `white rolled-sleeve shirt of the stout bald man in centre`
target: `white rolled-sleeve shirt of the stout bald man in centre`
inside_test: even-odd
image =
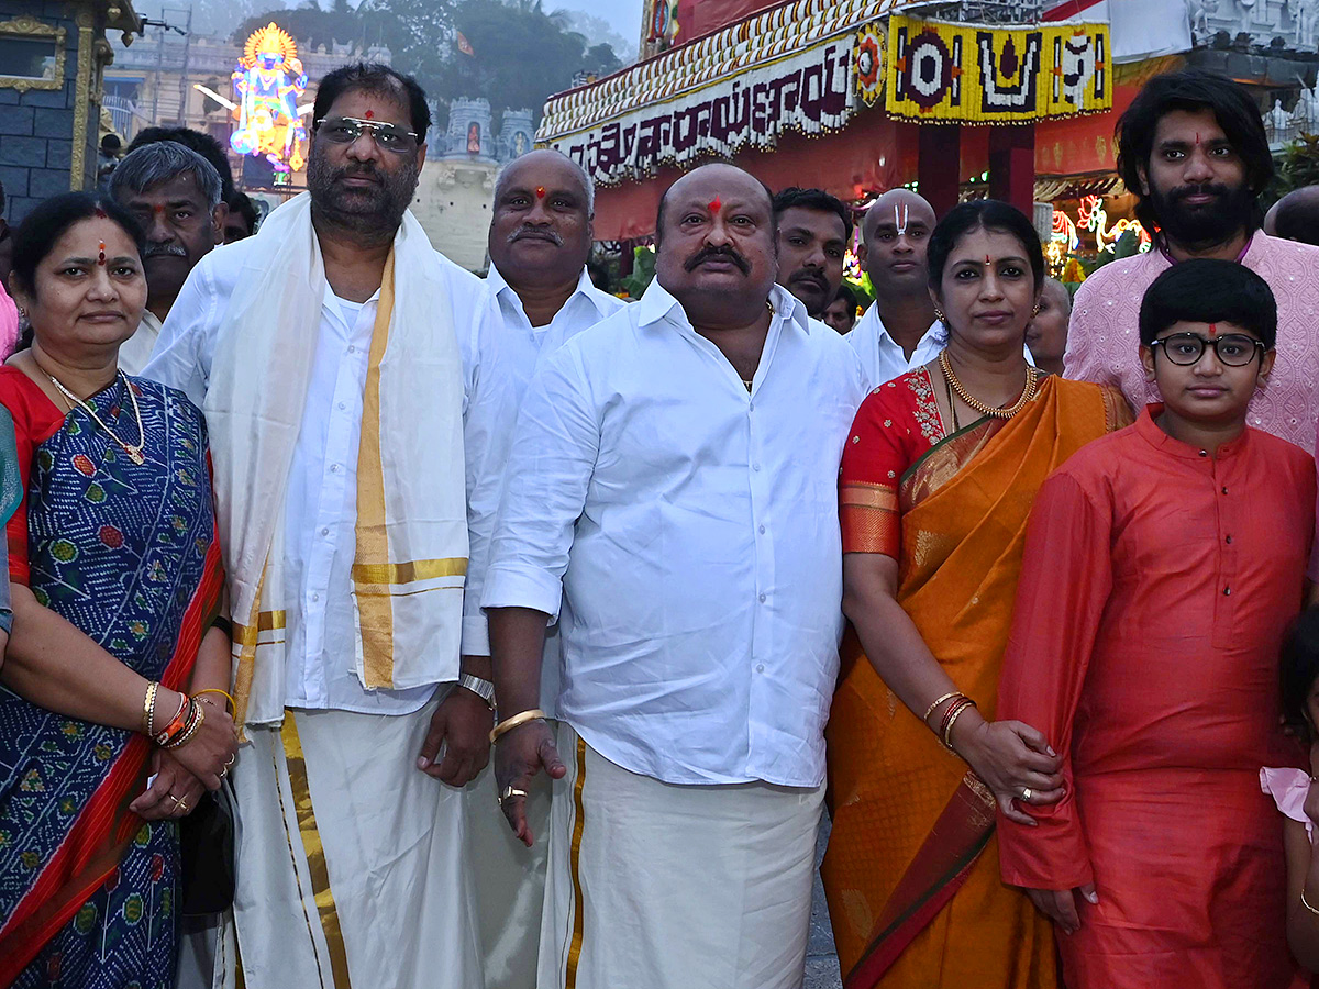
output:
[[[665,782],[824,778],[838,469],[867,384],[772,293],[751,394],[654,281],[543,360],[513,439],[481,604],[559,616],[559,715]]]

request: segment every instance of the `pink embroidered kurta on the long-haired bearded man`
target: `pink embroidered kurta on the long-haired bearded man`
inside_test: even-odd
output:
[[[1257,232],[1242,264],[1278,302],[1278,359],[1250,402],[1249,425],[1310,452],[1319,425],[1319,248]],[[1158,251],[1100,268],[1076,291],[1067,331],[1066,376],[1111,384],[1133,409],[1161,401],[1140,357],[1141,299],[1169,266]]]

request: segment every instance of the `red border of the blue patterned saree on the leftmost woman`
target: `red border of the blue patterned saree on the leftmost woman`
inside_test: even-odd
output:
[[[183,612],[174,655],[161,675],[161,683],[170,690],[177,690],[191,673],[202,636],[219,609],[224,571],[218,531],[212,534],[202,574],[202,582]],[[119,865],[124,849],[142,824],[128,804],[135,799],[135,785],[144,779],[149,756],[146,736],[129,738],[41,877],[0,928],[0,985],[9,985],[18,977]]]

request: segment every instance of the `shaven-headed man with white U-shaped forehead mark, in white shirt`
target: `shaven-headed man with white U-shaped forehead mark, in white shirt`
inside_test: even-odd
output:
[[[857,260],[871,276],[874,303],[847,342],[861,357],[872,388],[934,360],[948,342],[934,318],[925,260],[934,227],[934,208],[907,189],[890,189],[861,220]]]

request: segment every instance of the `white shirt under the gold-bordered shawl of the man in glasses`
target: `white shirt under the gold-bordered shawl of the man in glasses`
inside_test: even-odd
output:
[[[193,269],[144,371],[145,377],[181,388],[199,406],[222,316],[239,276],[243,243],[216,248]],[[454,327],[466,334],[481,318],[481,282],[443,258],[442,268],[447,293],[435,305],[450,305]],[[367,690],[356,674],[352,560],[357,546],[357,446],[377,299],[379,291],[367,302],[350,302],[326,286],[321,306],[284,504],[286,707],[404,715],[421,708],[435,692],[434,686]]]

